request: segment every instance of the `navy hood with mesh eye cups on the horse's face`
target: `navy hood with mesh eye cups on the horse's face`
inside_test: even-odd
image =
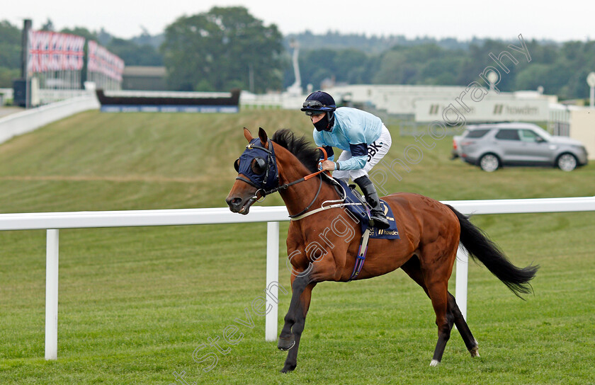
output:
[[[268,149],[265,149],[261,146],[259,138],[252,139],[242,155],[234,162],[234,168],[247,178],[238,176],[236,179],[255,188],[272,190],[279,184],[279,171],[271,142],[268,142]]]

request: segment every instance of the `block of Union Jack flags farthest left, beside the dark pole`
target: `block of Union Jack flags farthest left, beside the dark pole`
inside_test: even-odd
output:
[[[28,72],[80,71],[85,38],[67,33],[29,30]]]

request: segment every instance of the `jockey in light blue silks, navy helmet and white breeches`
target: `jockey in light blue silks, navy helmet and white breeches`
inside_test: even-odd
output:
[[[368,178],[368,172],[385,156],[392,139],[382,120],[356,108],[336,108],[332,96],[323,91],[310,93],[302,105],[314,125],[314,142],[329,156],[322,170],[333,171],[333,177],[347,183],[351,177],[361,188],[365,201],[372,208],[373,226],[388,229],[389,223],[380,206],[378,193]],[[334,161],[333,147],[342,149]]]

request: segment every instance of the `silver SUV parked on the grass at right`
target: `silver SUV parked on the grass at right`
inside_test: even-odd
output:
[[[468,125],[453,138],[453,156],[496,171],[502,166],[550,166],[572,171],[587,164],[587,149],[577,140],[555,137],[531,123]]]

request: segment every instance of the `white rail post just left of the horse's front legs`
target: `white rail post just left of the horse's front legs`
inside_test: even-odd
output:
[[[271,285],[273,282],[276,282],[276,285]],[[266,341],[277,340],[278,304],[271,299],[271,296],[275,299],[279,298],[278,282],[279,222],[266,222],[266,309],[272,306],[264,321],[264,340]]]

